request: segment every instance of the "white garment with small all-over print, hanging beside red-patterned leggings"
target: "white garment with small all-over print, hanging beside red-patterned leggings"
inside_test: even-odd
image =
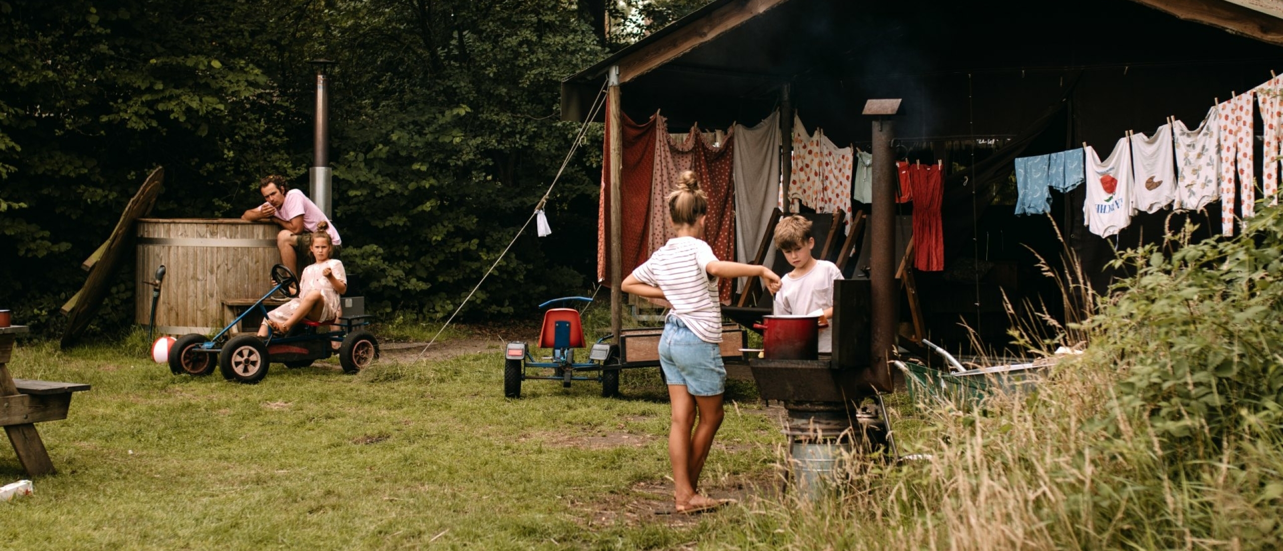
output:
[[[1171,135],[1177,142],[1177,201],[1175,208],[1200,210],[1220,199],[1220,115],[1212,105],[1198,128],[1188,129],[1185,123],[1173,123]]]

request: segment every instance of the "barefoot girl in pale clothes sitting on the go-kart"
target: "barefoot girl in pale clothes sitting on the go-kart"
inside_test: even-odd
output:
[[[287,334],[304,318],[312,322],[330,320],[343,311],[339,296],[348,292],[348,273],[343,269],[341,260],[330,258],[334,245],[325,231],[327,224],[325,222],[321,224],[312,233],[310,249],[316,264],[303,269],[299,277],[299,296],[267,313],[267,318],[258,328],[259,337],[267,337],[268,331]]]

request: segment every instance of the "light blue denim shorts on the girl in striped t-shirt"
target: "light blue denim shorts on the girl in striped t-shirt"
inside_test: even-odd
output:
[[[684,384],[692,396],[717,396],[726,390],[721,346],[701,340],[674,317],[659,337],[659,368],[668,384]]]

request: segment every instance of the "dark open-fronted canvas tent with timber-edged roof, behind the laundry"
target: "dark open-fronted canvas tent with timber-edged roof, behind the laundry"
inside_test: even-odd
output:
[[[612,90],[622,113],[643,120],[658,110],[672,129],[752,124],[783,108],[858,146],[871,138],[870,119],[860,114],[865,101],[902,97],[897,156],[930,160],[949,150],[967,167],[989,152],[957,144],[1017,138],[1026,138],[1023,155],[1083,142],[1107,150],[1126,131],[1152,131],[1169,115],[1196,126],[1214,99],[1283,70],[1279,12],[1266,0],[1037,8],[1017,0],[717,0],[567,78],[562,113],[582,118],[617,68]],[[939,332],[952,332],[961,318],[993,325],[1001,338],[998,291],[1047,291],[1033,279],[1026,246],[1055,258],[1058,243],[1051,220],[1012,217],[993,200],[1008,174],[946,182],[947,197],[957,199],[944,204],[947,267],[988,261],[1001,269],[975,282],[919,278]],[[1082,201],[1082,190],[1057,196],[1052,218],[1097,286],[1110,279],[1105,264],[1115,247],[1180,222],[1170,211],[1141,215],[1117,240],[1103,240],[1083,228]],[[1219,215],[1215,204],[1192,214],[1205,228]]]

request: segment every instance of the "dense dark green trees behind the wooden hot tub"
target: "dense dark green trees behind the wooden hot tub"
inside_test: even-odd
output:
[[[582,4],[0,0],[0,308],[58,331],[80,263],[157,165],[158,218],[236,218],[267,173],[305,188],[307,62],[330,59],[334,219],[353,292],[382,314],[453,311],[580,131],[559,120],[559,81],[698,5],[644,5],[668,15],[604,37]],[[591,287],[600,127],[588,131],[545,208],[554,233],[523,233],[466,315]],[[126,259],[98,328],[132,323],[132,270]]]

